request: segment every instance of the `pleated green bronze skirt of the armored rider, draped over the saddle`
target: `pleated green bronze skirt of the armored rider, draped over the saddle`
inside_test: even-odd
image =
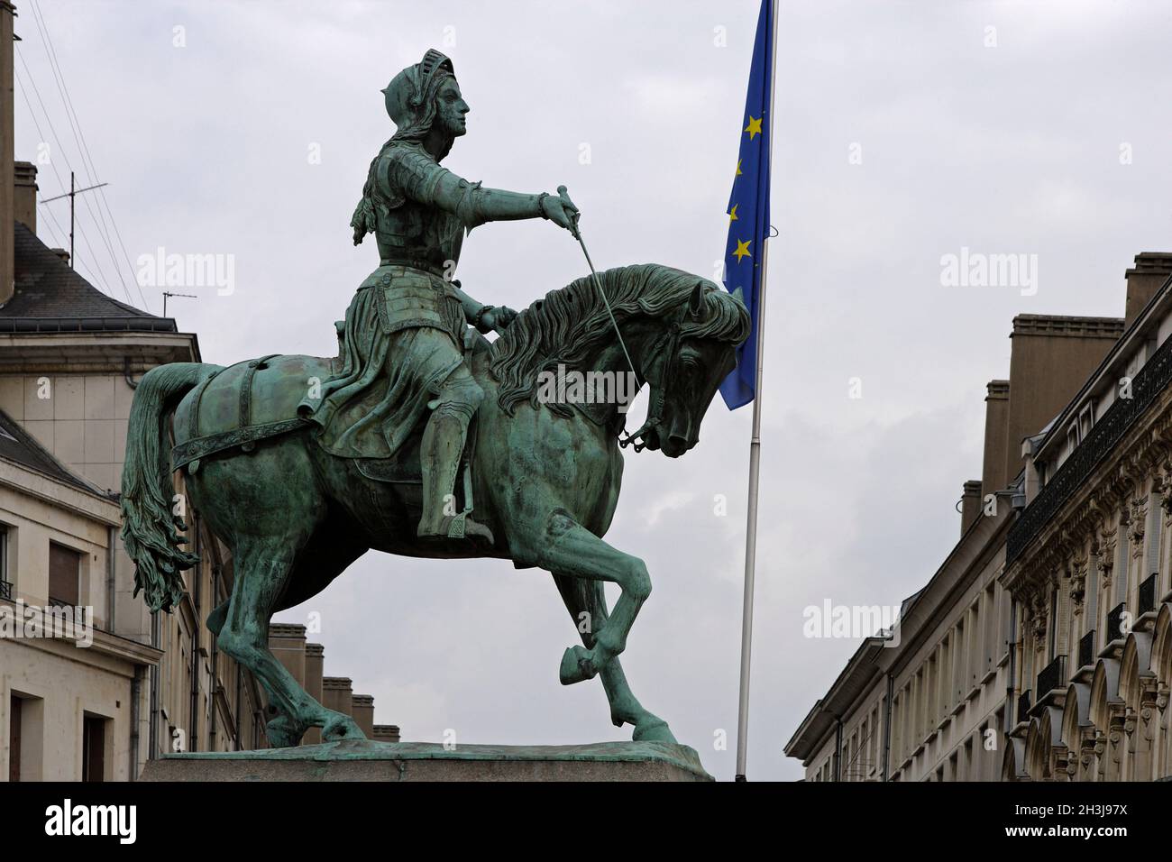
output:
[[[311,381],[300,414],[321,426],[319,441],[334,455],[391,457],[463,362],[465,330],[459,299],[442,278],[380,266],[346,311],[341,369],[320,393]]]

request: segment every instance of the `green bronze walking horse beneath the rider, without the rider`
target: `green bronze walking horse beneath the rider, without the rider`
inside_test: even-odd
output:
[[[551,291],[492,342],[469,330],[468,362],[485,398],[454,496],[465,511],[475,505],[492,532],[489,545],[416,536],[418,434],[389,461],[340,457],[318,443],[316,426],[297,406],[307,387],[338,371],[340,358],[152,368],[135,393],[122,478],[122,535],[136,565],[136,595],[142,590],[152,611],[171,611],[184,592],[182,571],[198,562],[180,548],[186,527],[172,508],[173,470],[180,470],[189,503],[232,551],[232,595],[207,626],[219,649],[260,680],[275,713],[268,741],[285,747],[311,727],[326,741],[363,734],[312,698],[270,652],[273,613],[316,596],[369,549],[539,566],[553,576],[575,626],[590,620],[582,645],[561,658],[561,683],[601,677],[616,727],[632,725],[635,740],[675,742],[667,722],[632,693],[619,663],[652,588],[641,559],[602,539],[619,498],[626,405],[551,399],[540,380],[564,369],[621,375],[629,354],[638,387],[649,386],[649,409],[643,427],[621,442],[641,439],[636,450],[679,457],[696,444],[749,327],[735,294],[642,264]],[[621,588],[613,611],[607,581]]]

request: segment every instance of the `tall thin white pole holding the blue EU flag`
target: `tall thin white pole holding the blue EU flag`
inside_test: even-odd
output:
[[[770,41],[769,69],[769,168],[774,168],[774,104],[777,101],[777,7],[770,0],[774,32]],[[768,190],[766,190],[768,194]],[[736,780],[745,781],[749,748],[749,659],[752,652],[752,589],[757,565],[757,491],[761,486],[761,396],[762,369],[765,361],[765,276],[769,264],[769,235],[761,250],[761,289],[757,293],[757,376],[752,391],[752,436],[749,440],[749,516],[744,541],[744,610],[741,618],[741,703],[736,722]]]

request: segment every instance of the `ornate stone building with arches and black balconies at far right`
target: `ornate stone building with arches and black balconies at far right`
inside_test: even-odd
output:
[[[1021,609],[1002,776],[1172,775],[1172,254],[1136,257],[1126,331],[1023,443],[1002,581]]]

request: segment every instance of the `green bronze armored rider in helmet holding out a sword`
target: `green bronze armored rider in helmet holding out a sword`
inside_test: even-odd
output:
[[[472,228],[546,218],[571,230],[578,209],[565,192],[488,189],[440,167],[469,113],[440,52],[428,50],[382,93],[396,131],[370,163],[350,222],[355,245],[375,235],[379,269],[346,312],[343,368],[321,384],[320,399],[302,402],[302,415],[322,426],[320,440],[334,454],[390,457],[430,410],[418,536],[492,542],[488,527],[451,505],[469,423],[484,399],[463,361],[465,321],[486,333],[516,312],[482,305],[452,274]]]

